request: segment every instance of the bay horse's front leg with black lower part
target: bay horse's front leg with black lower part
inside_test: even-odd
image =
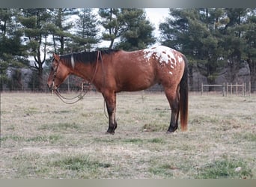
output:
[[[114,134],[115,129],[118,127],[118,123],[115,120],[115,109],[116,109],[116,93],[103,94],[106,101],[106,107],[109,114],[109,129],[107,132]]]

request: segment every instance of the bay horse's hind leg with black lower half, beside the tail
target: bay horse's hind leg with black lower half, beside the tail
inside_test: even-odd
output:
[[[167,132],[174,132],[178,127],[180,94],[177,92],[177,89],[166,88],[165,95],[171,107],[171,122]]]

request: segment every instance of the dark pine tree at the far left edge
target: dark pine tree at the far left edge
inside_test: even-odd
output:
[[[0,9],[0,91],[7,82],[17,82],[22,88],[19,68],[28,67],[26,48],[22,45],[22,33],[16,20],[17,9]],[[11,79],[7,76],[11,70]],[[13,85],[9,86],[10,90]]]

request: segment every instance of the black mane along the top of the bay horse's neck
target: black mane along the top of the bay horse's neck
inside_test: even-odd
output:
[[[111,55],[115,52],[118,52],[118,49],[108,49],[108,50],[101,50],[101,55]],[[98,60],[100,61],[100,55],[98,57],[99,51],[94,52],[74,52],[67,55],[61,55],[61,59],[64,60],[67,64],[71,65],[71,56],[73,55],[73,59],[75,62],[83,62],[83,63],[90,63],[93,64]]]

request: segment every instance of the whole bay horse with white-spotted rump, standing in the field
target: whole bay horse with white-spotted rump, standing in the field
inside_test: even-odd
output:
[[[171,121],[167,132],[188,123],[188,61],[180,52],[166,46],[154,46],[133,52],[102,50],[68,55],[53,54],[47,85],[56,91],[70,74],[91,82],[102,93],[109,114],[109,129],[114,134],[116,121],[116,93],[141,91],[156,83],[163,86],[171,107]]]

